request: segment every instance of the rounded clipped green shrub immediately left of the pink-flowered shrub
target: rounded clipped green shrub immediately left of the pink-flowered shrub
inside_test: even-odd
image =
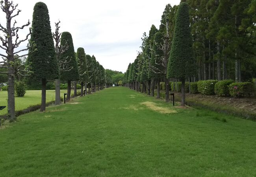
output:
[[[234,81],[232,79],[219,81],[214,86],[214,92],[218,96],[230,96],[228,86]]]

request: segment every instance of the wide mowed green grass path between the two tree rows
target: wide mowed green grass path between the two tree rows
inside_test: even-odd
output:
[[[197,109],[162,114],[145,101],[173,109],[115,87],[20,116],[0,130],[0,176],[256,175],[256,122]]]

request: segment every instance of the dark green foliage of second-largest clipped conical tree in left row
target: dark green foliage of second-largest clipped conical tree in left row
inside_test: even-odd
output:
[[[61,46],[68,46],[68,49],[65,50],[65,52],[61,53],[59,56],[59,61],[60,62],[65,62],[66,63],[66,68],[70,68],[68,71],[61,71],[61,80],[63,81],[78,81],[79,78],[79,73],[78,73],[78,66],[76,63],[76,55],[74,52],[74,45],[73,45],[73,40],[72,36],[69,32],[63,32],[61,34]]]

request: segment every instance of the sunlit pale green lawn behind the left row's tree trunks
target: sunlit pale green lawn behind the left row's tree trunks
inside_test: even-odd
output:
[[[71,91],[74,92],[74,90]],[[67,90],[61,90],[62,98],[64,93],[67,93]],[[55,90],[46,90],[46,102],[52,100],[55,100]],[[37,104],[41,104],[41,90],[26,90],[24,97],[15,97],[16,111]],[[7,106],[7,91],[0,91],[0,105]],[[0,111],[0,115],[3,114],[7,114],[7,108]]]

